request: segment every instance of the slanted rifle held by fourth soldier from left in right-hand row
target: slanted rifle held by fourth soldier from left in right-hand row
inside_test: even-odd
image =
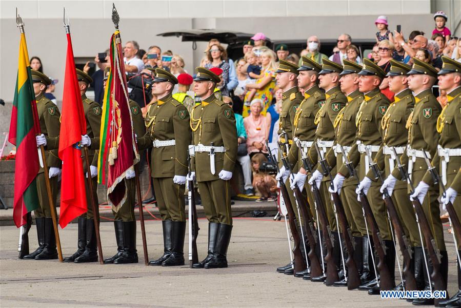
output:
[[[322,167],[323,175],[330,178],[330,187],[333,188],[333,177],[331,176],[330,169],[325,157],[322,156],[317,144],[315,143],[315,149],[317,150],[317,155],[319,157],[318,163]],[[344,242],[346,244],[346,249],[348,256],[346,259],[348,276],[347,276],[347,288],[348,290],[353,290],[360,285],[360,275],[358,274],[357,264],[354,260],[354,245],[355,242],[352,238],[352,231],[347,222],[346,212],[344,211],[343,202],[339,198],[338,192],[331,192],[331,197],[333,198],[333,205],[335,207],[336,214],[338,216],[338,222],[343,230]],[[339,239],[340,240],[340,239]]]

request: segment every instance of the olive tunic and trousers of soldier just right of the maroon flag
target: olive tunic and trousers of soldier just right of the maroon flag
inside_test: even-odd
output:
[[[138,139],[140,149],[153,146],[151,176],[162,220],[186,221],[185,185],[175,184],[173,177],[186,176],[188,172],[189,119],[186,107],[169,93],[149,106],[145,118],[147,131]],[[172,140],[175,145],[153,145]]]

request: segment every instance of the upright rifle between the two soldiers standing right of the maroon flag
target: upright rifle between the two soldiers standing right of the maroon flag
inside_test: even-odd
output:
[[[190,166],[190,153],[187,152],[188,160],[188,175],[191,174]],[[197,237],[198,237],[198,221],[197,221],[197,208],[195,207],[195,191],[194,181],[187,181],[187,198],[189,200],[189,265],[192,268],[192,264],[198,263],[198,251],[197,251]]]

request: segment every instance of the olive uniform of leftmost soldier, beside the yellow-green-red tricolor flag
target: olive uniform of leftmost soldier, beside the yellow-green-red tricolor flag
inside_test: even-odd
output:
[[[37,113],[40,129],[45,135],[47,145],[45,147],[45,161],[50,167],[61,168],[62,162],[57,156],[59,148],[59,128],[61,123],[59,118],[61,113],[57,106],[45,97],[43,93],[37,95],[35,98],[37,102]],[[41,153],[39,154],[41,156]],[[57,197],[57,176],[50,179],[51,195],[53,197],[54,206],[56,206]],[[48,200],[48,192],[46,188],[45,172],[43,167],[38,170],[37,178],[37,191],[39,207],[34,211],[35,217],[51,217],[51,207]]]

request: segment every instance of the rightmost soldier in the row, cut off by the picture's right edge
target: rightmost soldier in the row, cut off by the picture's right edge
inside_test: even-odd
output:
[[[444,185],[448,188],[446,196],[443,196],[443,202],[452,202],[459,219],[461,218],[461,199],[459,198],[459,192],[461,192],[461,189],[459,189],[459,186],[457,187],[457,185],[459,185],[459,181],[456,181],[455,178],[460,177],[459,174],[461,170],[461,64],[446,56],[442,56],[442,61],[442,69],[438,72],[438,85],[441,90],[445,90],[447,92],[448,101],[447,105],[437,118],[436,128],[437,132],[440,133],[440,139],[438,140],[437,150],[435,151],[432,159],[432,165],[439,171],[438,174],[440,175],[442,183],[439,183],[438,185]],[[424,109],[423,112],[425,112]],[[425,113],[423,113],[423,115],[424,114]],[[456,182],[458,182],[458,184],[456,184]],[[429,188],[430,186],[434,185],[430,172],[427,171],[423,180],[419,182],[415,189],[415,195],[417,195],[417,198],[422,199],[425,198],[426,195],[430,195],[432,188]],[[435,206],[435,202],[433,206]],[[461,247],[461,239],[457,239],[457,244],[458,247],[456,247],[456,249],[459,251]],[[442,255],[445,257],[445,254]],[[444,306],[446,307],[459,307],[459,304],[461,303],[461,273],[459,272],[459,260],[456,263],[458,267],[459,290],[455,296],[444,303]],[[446,275],[447,273],[445,271],[448,271],[448,268],[443,266],[446,266],[446,264],[440,264],[440,267],[443,268],[443,275]],[[447,276],[444,276],[444,279],[447,281]],[[442,305],[443,302],[440,302],[439,304]]]

